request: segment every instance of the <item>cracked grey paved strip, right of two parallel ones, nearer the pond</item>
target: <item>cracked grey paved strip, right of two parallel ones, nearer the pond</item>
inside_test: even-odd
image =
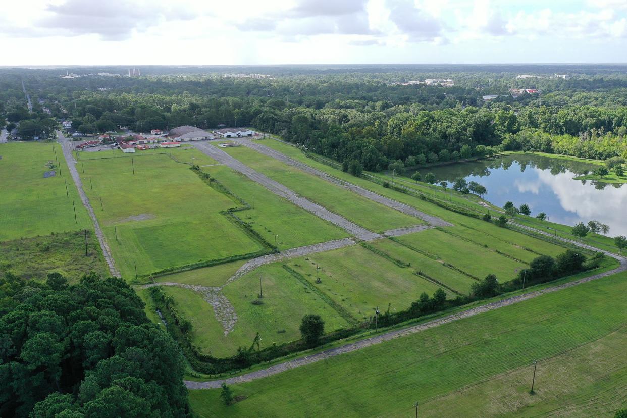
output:
[[[254,142],[253,140],[250,140],[248,138],[241,138],[241,139],[237,139],[236,141],[239,142],[240,144],[246,145],[246,147],[252,148],[260,152],[261,154],[268,155],[268,157],[272,157],[282,162],[285,162],[286,164],[292,165],[292,167],[296,167],[297,169],[300,169],[304,172],[308,172],[309,174],[317,175],[318,177],[324,180],[327,180],[330,183],[339,185],[340,187],[343,187],[344,189],[347,189],[351,192],[359,194],[360,196],[366,197],[367,199],[370,199],[371,201],[375,201],[384,206],[391,207],[392,209],[396,209],[397,211],[403,212],[404,214],[408,214],[409,216],[418,217],[419,219],[422,219],[423,221],[428,222],[431,225],[451,226],[450,222],[446,222],[444,219],[418,211],[418,209],[414,207],[411,207],[401,202],[394,201],[392,199],[389,199],[388,197],[381,196],[380,194],[376,194],[375,192],[366,190],[359,185],[352,184],[345,180],[338,179],[337,177],[333,177],[330,174],[314,169],[314,167],[311,167],[310,165],[303,164],[302,162],[292,159],[288,157],[287,155],[282,154],[281,152],[278,152],[277,150],[266,147],[265,145],[261,145],[258,142]]]

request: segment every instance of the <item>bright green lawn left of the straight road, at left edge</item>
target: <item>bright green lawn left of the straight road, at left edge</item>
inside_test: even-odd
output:
[[[61,147],[54,146],[58,162],[52,143],[0,144],[0,241],[92,229]],[[56,167],[46,167],[48,162]],[[44,178],[51,170],[56,175]]]

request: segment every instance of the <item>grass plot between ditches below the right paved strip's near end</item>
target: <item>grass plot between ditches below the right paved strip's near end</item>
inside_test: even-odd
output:
[[[419,233],[398,237],[401,243],[435,254],[445,263],[478,278],[496,274],[500,281],[514,279],[519,269],[527,264],[507,258],[495,251],[478,251],[476,244],[455,238],[437,229],[428,229]]]

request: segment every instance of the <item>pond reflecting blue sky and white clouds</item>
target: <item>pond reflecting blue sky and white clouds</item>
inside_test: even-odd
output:
[[[627,185],[574,180],[596,167],[585,162],[514,154],[419,172],[423,178],[432,172],[438,182],[446,180],[449,184],[456,177],[478,182],[488,189],[485,199],[496,206],[503,207],[507,201],[517,207],[526,203],[532,216],[545,212],[549,221],[571,226],[594,220],[610,227],[609,236],[627,235]]]

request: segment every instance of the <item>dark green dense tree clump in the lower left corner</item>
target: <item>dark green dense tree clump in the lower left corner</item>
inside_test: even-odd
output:
[[[0,278],[0,416],[188,416],[183,361],[120,278]]]

